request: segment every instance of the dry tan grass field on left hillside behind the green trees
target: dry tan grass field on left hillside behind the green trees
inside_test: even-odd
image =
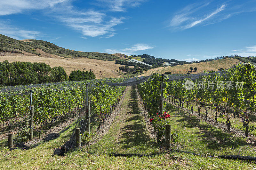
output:
[[[38,50],[38,49],[37,49]],[[119,64],[115,64],[115,61],[104,61],[104,60],[95,60],[88,58],[64,58],[53,54],[44,53],[40,51],[41,56],[35,56],[30,53],[23,52],[25,54],[18,53],[7,53],[0,52],[0,61],[3,62],[8,60],[9,62],[13,61],[27,61],[27,62],[45,62],[51,67],[62,66],[69,75],[73,70],[92,70],[96,75],[96,78],[115,78],[120,77],[124,72],[118,70]],[[118,71],[117,71],[118,70]]]

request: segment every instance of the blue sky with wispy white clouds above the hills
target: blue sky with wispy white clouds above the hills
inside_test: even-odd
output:
[[[0,33],[87,52],[256,56],[256,0],[0,1]]]

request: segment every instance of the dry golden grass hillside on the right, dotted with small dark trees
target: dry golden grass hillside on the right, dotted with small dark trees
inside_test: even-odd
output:
[[[202,63],[184,64],[184,65],[171,66],[171,67],[158,67],[158,68],[153,68],[151,70],[148,70],[147,73],[144,73],[141,75],[148,76],[153,73],[164,74],[164,72],[166,71],[172,72],[172,74],[187,74],[188,71],[190,71],[189,69],[190,67],[193,67],[193,68],[197,67],[196,72],[190,73],[190,74],[197,74],[203,70],[217,71],[219,68],[226,69],[238,63],[241,63],[241,61],[234,58],[227,58],[227,59],[213,60],[213,61],[207,61]]]

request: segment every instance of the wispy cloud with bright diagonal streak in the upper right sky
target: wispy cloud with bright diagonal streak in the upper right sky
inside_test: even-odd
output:
[[[238,15],[242,12],[256,11],[255,2],[212,1],[189,4],[174,13],[167,22],[167,27],[173,31],[186,30],[197,25],[209,25]]]

